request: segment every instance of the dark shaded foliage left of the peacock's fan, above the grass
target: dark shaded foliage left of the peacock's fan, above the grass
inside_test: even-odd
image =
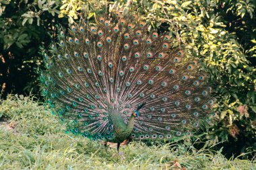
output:
[[[65,21],[58,18],[60,3],[60,0],[0,0],[0,85],[5,86],[4,95],[11,91],[38,91],[33,68],[42,62],[39,46],[42,43],[47,46],[54,26]]]

